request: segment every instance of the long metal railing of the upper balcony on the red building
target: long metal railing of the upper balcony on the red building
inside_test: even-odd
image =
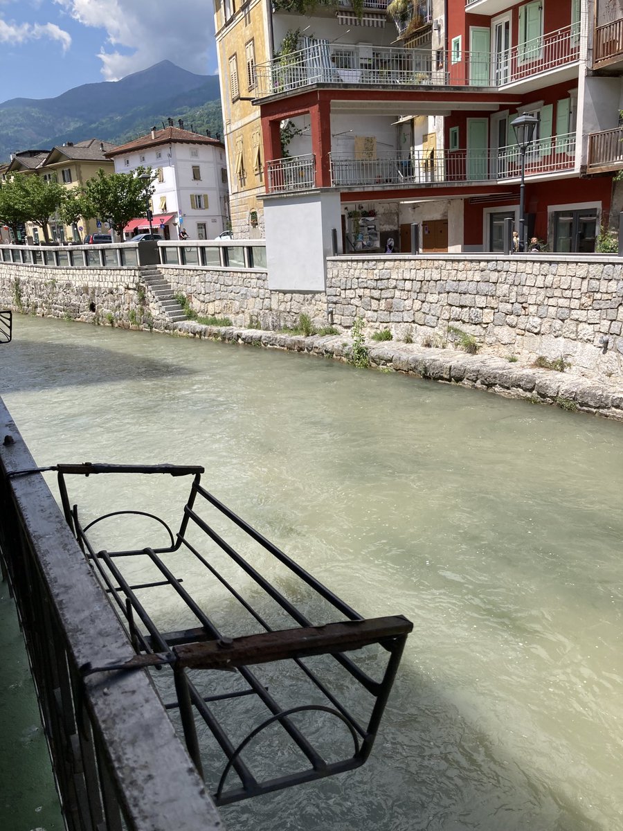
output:
[[[415,13],[415,12],[414,12]],[[405,28],[406,31],[406,28]],[[580,24],[496,55],[319,41],[256,66],[258,98],[315,84],[506,86],[580,59]]]

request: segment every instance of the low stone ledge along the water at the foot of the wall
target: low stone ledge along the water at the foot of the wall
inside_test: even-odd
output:
[[[351,353],[351,339],[346,334],[302,337],[258,329],[202,326],[195,322],[182,322],[168,331],[183,337],[307,352],[336,361],[348,361]],[[535,404],[557,405],[562,410],[623,420],[621,385],[597,384],[593,379],[567,372],[522,366],[495,356],[468,355],[451,348],[435,349],[400,342],[382,345],[367,342],[366,346],[373,369],[403,372],[508,398],[523,398]]]

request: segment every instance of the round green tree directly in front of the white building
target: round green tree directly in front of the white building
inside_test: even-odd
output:
[[[147,179],[140,179],[146,174]],[[145,216],[147,203],[154,193],[152,182],[155,174],[151,168],[136,168],[134,173],[111,173],[98,170],[83,188],[82,215],[88,219],[98,217],[109,221],[115,232],[123,238],[123,229],[137,216]]]

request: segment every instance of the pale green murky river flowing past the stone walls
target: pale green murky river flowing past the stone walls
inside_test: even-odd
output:
[[[621,828],[623,425],[31,317],[0,355],[38,464],[204,465],[357,611],[415,624],[370,761],[223,808],[228,831]]]

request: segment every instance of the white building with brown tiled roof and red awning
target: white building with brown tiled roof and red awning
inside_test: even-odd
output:
[[[214,239],[229,227],[229,198],[225,146],[209,135],[169,126],[152,128],[148,135],[115,147],[106,154],[115,173],[150,167],[157,173],[151,199],[154,232],[177,239],[185,229],[191,239]],[[145,205],[146,213],[146,205]],[[148,219],[136,217],[125,227],[125,237],[148,232]]]

